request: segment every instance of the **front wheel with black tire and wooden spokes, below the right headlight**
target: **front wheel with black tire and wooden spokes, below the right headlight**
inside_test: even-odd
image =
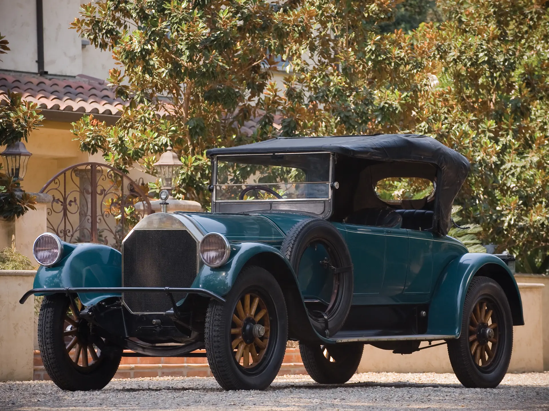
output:
[[[260,317],[263,310],[266,314]],[[256,324],[264,327],[264,335],[258,337],[255,334]],[[287,340],[288,316],[284,295],[275,277],[267,270],[245,267],[226,295],[224,304],[210,301],[204,343],[211,372],[223,389],[265,390],[280,370]],[[237,345],[233,347],[235,341]]]

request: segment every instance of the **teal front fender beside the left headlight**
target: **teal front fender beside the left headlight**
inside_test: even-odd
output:
[[[121,287],[122,254],[103,244],[63,242],[63,259],[53,267],[40,266],[32,288]],[[44,294],[36,294],[44,295]],[[83,305],[120,293],[79,293]]]

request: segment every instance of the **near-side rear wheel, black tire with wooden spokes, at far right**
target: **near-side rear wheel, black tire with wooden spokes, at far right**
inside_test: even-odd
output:
[[[491,278],[474,277],[463,305],[460,338],[448,341],[457,379],[468,388],[496,387],[507,373],[512,349],[513,320],[505,292]]]

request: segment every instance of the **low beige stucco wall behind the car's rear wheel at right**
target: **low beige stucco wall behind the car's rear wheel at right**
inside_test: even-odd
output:
[[[517,281],[522,281],[522,278]],[[508,370],[510,373],[544,370],[544,336],[542,310],[540,310],[544,288],[544,284],[540,283],[519,283],[525,325],[513,327],[513,353]],[[545,341],[545,345],[549,345],[549,340]],[[428,343],[422,343],[420,347],[427,345]],[[365,345],[358,372],[453,373],[453,370],[446,345],[406,355],[393,354],[392,351]]]

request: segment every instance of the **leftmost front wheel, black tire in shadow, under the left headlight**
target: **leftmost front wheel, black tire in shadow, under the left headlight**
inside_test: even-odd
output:
[[[100,390],[113,379],[120,364],[122,350],[108,346],[103,339],[90,332],[87,321],[70,316],[69,313],[72,311],[67,296],[53,294],[44,297],[38,316],[38,346],[44,367],[61,390]],[[67,326],[68,321],[77,325]],[[65,336],[64,333],[71,335]],[[71,340],[69,345],[72,340],[77,341],[72,345],[75,352],[79,351],[76,362],[69,356],[71,350],[67,349],[66,339]],[[86,347],[86,357],[81,355],[83,347]],[[97,358],[94,359],[93,356]]]

